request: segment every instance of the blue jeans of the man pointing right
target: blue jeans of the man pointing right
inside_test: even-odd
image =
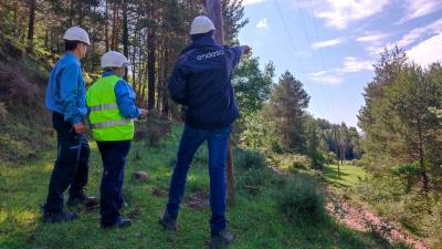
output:
[[[187,173],[194,153],[207,141],[209,146],[210,208],[212,234],[225,228],[225,159],[230,126],[220,129],[199,129],[186,125],[181,136],[177,163],[170,181],[167,211],[178,217],[179,206],[185,194]]]

